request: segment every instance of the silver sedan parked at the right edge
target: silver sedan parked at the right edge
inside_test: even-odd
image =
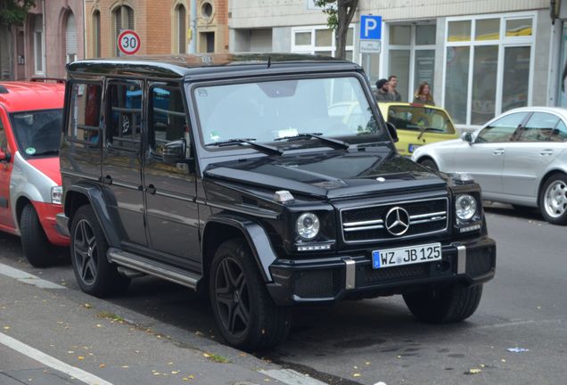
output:
[[[484,199],[538,208],[567,224],[567,110],[524,107],[461,139],[419,148],[412,159],[448,173],[468,172]]]

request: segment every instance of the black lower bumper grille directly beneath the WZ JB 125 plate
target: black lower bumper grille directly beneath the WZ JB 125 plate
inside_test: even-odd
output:
[[[429,274],[430,264],[384,267],[381,269],[374,269],[371,264],[364,264],[357,266],[357,287],[365,287],[392,280],[421,278]]]

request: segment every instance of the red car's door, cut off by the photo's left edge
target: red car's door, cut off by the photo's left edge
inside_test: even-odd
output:
[[[9,127],[8,115],[0,107],[0,150],[13,158],[12,149],[8,145],[4,127]],[[0,160],[0,229],[13,231],[14,221],[10,207],[10,177],[12,176],[12,160]],[[11,232],[12,232],[11,231]]]

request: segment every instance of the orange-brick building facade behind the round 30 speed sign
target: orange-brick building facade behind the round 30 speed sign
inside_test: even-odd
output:
[[[117,38],[133,29],[138,55],[187,53],[191,0],[85,0],[86,58],[119,56]],[[228,0],[197,1],[198,53],[228,51]]]

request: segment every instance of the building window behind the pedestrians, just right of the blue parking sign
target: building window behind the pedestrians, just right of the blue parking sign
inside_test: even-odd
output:
[[[384,78],[398,78],[396,90],[402,101],[411,102],[417,88],[424,82],[430,86],[435,75],[434,24],[390,24],[387,51],[387,71]]]

